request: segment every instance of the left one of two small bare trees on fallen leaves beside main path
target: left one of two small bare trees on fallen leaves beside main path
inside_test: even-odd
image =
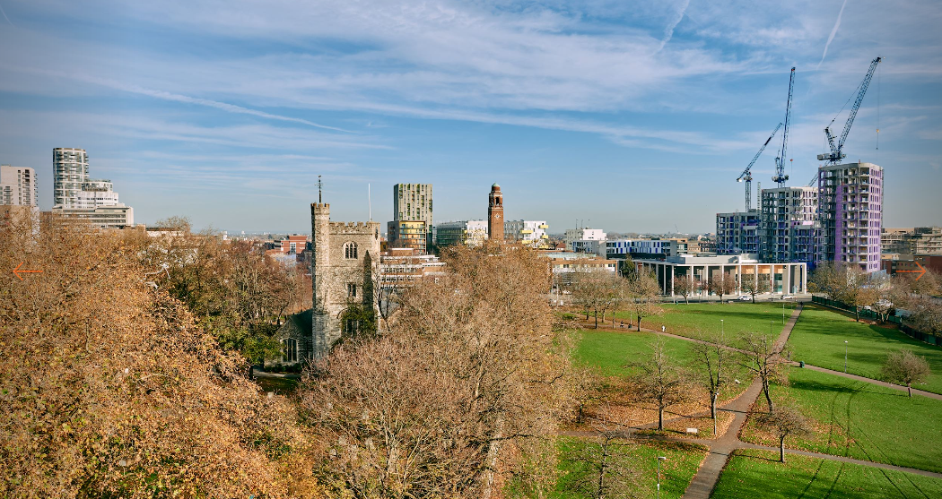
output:
[[[658,408],[658,431],[663,431],[664,410],[690,399],[688,374],[668,356],[660,340],[651,344],[651,355],[645,362],[629,365],[641,369],[632,378],[635,395],[654,402]]]

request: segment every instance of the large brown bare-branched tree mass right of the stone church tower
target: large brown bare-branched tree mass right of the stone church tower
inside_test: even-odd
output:
[[[328,496],[489,497],[519,449],[554,439],[575,410],[537,252],[487,244],[443,259],[444,275],[403,292],[388,334],[344,342],[309,373],[301,405],[327,443]]]

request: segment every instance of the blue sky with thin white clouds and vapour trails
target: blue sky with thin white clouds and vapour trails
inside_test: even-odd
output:
[[[0,0],[0,164],[83,148],[135,221],[310,232],[392,218],[433,185],[435,221],[550,233],[706,233],[785,118],[806,185],[875,56],[844,146],[885,169],[885,227],[942,225],[942,8],[925,1]],[[849,100],[851,102],[849,102]],[[879,129],[879,133],[877,130]],[[771,187],[781,132],[755,163]],[[755,185],[754,185],[755,189]],[[755,204],[755,194],[753,196]]]

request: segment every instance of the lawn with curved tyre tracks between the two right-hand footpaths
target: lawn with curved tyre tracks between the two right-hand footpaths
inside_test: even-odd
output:
[[[790,438],[786,446],[836,456],[885,462],[942,473],[942,400],[909,398],[905,392],[835,375],[791,368],[788,387],[773,386],[772,397],[789,396],[813,418],[816,433]],[[756,410],[765,410],[759,397]],[[747,442],[777,445],[750,418],[742,430]]]

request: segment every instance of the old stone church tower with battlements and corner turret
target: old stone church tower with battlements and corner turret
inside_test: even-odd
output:
[[[373,293],[373,273],[379,271],[380,223],[332,222],[331,205],[311,203],[311,286],[314,310],[311,320],[315,359],[330,352],[344,330],[344,314],[362,304],[379,313]],[[352,331],[350,331],[352,332]]]

